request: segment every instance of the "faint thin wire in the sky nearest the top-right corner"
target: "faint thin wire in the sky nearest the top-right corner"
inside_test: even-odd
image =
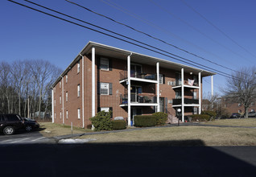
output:
[[[204,19],[207,23],[209,23],[210,25],[212,25],[215,29],[217,29],[217,31],[220,31],[222,33],[222,35],[225,35],[225,37],[227,37],[228,39],[230,39],[233,43],[237,44],[238,47],[241,47],[244,51],[248,52],[251,56],[254,56],[253,53],[251,53],[250,51],[248,51],[245,47],[242,47],[242,45],[240,45],[239,43],[237,43],[234,39],[232,39],[231,37],[229,37],[229,35],[227,35],[224,31],[221,31],[221,29],[219,27],[217,27],[216,25],[214,25],[212,22],[209,21],[209,19],[206,19],[204,17],[203,14],[200,14],[196,9],[194,9],[192,6],[188,5],[187,2],[185,2],[184,0],[180,0],[181,2],[184,3],[184,5],[188,6],[188,8],[190,8],[192,11],[194,11],[196,14],[198,14],[202,19]],[[254,56],[254,58],[256,58],[256,56]]]

